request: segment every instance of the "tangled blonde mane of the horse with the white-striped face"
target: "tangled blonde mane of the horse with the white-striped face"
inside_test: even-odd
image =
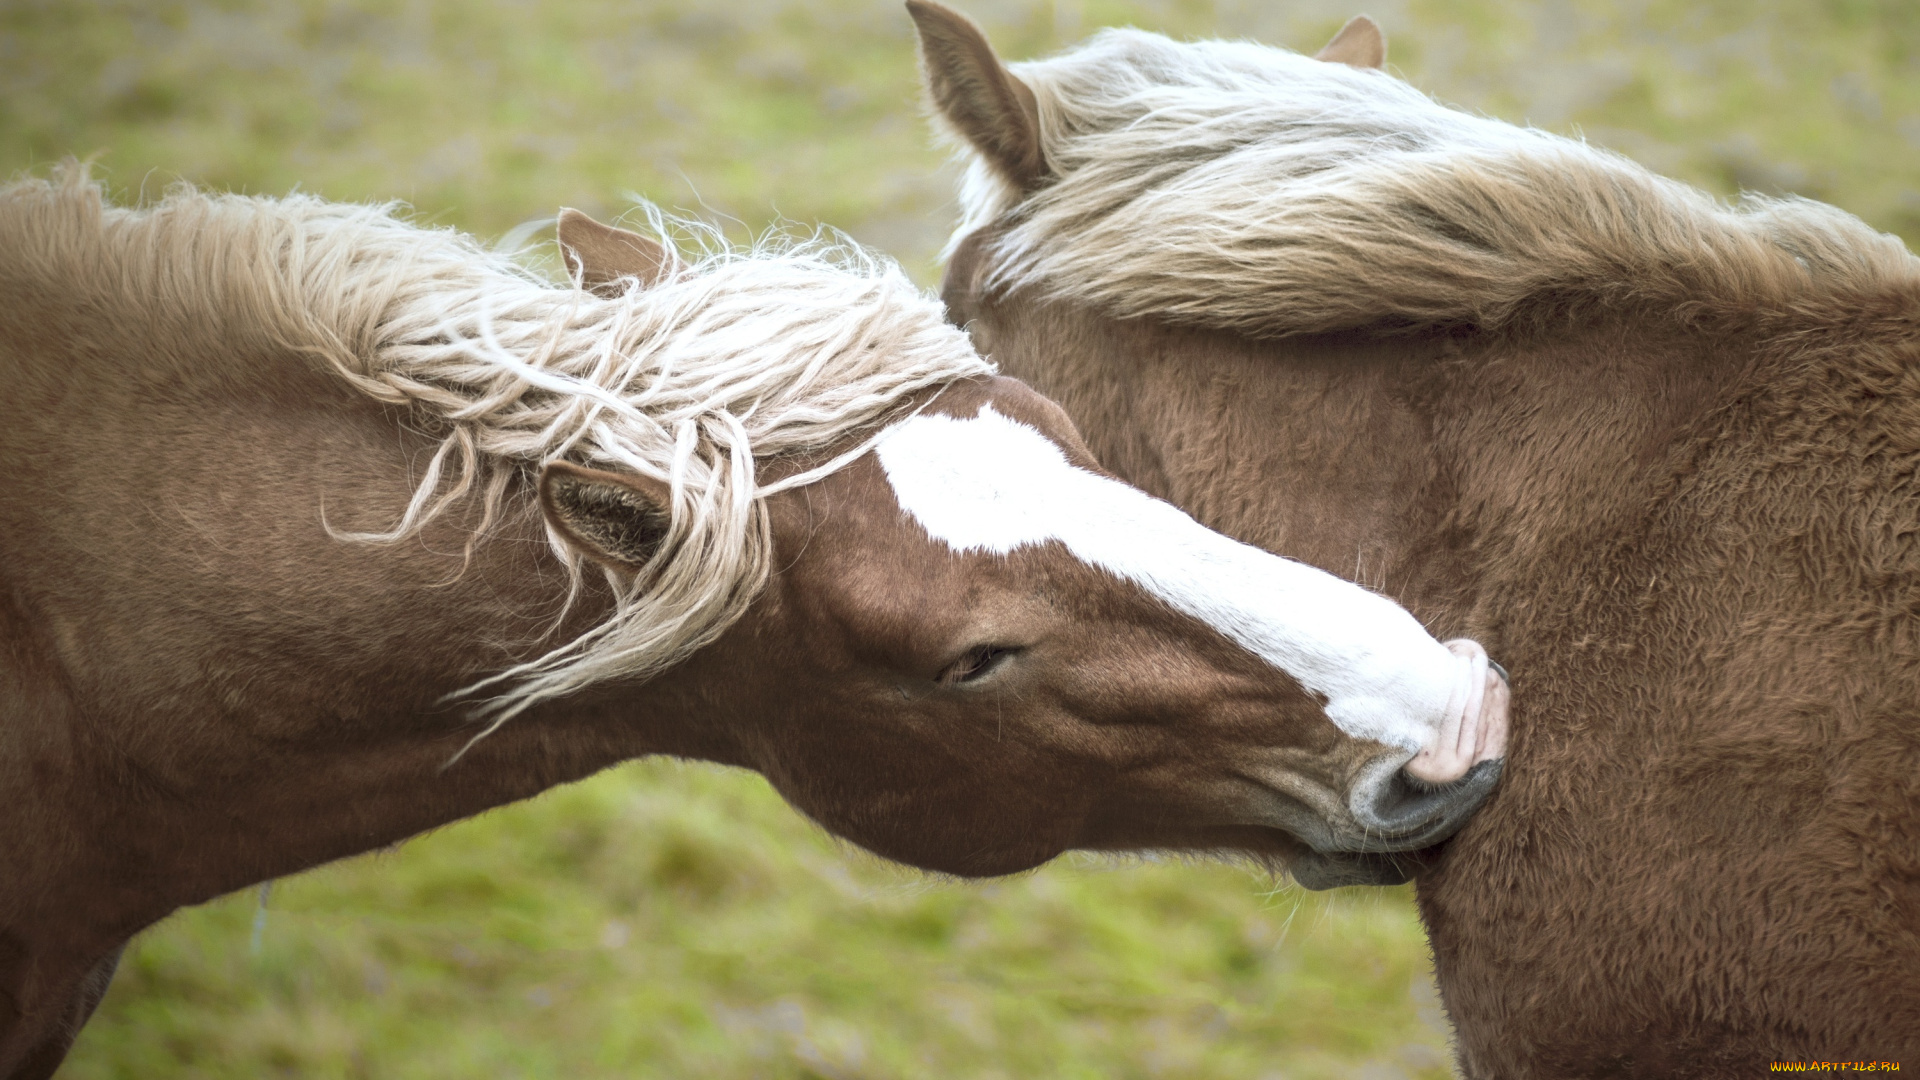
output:
[[[561,457],[668,482],[668,540],[611,578],[614,613],[480,684],[505,684],[482,707],[495,724],[714,640],[770,575],[764,498],[866,440],[778,484],[756,459],[877,432],[918,390],[991,371],[893,261],[831,238],[708,244],[674,281],[601,298],[394,206],[179,188],[113,208],[67,167],[0,188],[0,246],[42,281],[109,288],[127,319],[311,356],[444,434],[394,528],[348,538],[413,536],[474,494],[484,534],[513,475]],[[102,265],[108,281],[83,277]],[[582,553],[549,542],[578,590]]]

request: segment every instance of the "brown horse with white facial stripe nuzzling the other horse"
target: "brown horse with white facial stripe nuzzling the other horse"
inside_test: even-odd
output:
[[[0,188],[0,1076],[169,911],[645,753],[954,874],[1492,788],[1478,646],[1114,480],[891,263],[561,242]]]

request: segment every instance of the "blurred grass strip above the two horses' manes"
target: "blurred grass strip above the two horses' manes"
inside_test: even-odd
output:
[[[1359,0],[979,0],[1010,58],[1108,23],[1315,48]],[[1467,108],[1722,194],[1797,190],[1920,238],[1912,0],[1369,0],[1392,65]],[[0,175],[100,154],[413,202],[484,234],[628,192],[829,221],[922,281],[952,175],[895,0],[0,0]]]

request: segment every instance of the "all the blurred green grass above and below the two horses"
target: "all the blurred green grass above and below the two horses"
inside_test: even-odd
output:
[[[1311,50],[1354,13],[968,10],[1012,58],[1112,23]],[[1365,10],[1444,100],[1920,238],[1912,0]],[[65,154],[123,198],[298,186],[488,236],[630,194],[735,236],[828,221],[929,284],[952,219],[893,0],[0,0],[0,175]],[[753,774],[651,761],[177,915],[63,1076],[1436,1078],[1446,1040],[1405,890],[1075,857],[929,880]]]

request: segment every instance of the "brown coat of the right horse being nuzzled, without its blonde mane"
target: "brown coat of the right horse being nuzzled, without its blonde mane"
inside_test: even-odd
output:
[[[1035,221],[1066,221],[1060,192],[1077,181],[1025,171],[1041,154],[1006,131],[1021,113],[975,90],[1020,79],[977,29],[910,8],[935,106],[1012,192],[952,254],[950,317],[1058,400],[1119,475],[1233,536],[1386,590],[1511,665],[1511,773],[1417,878],[1467,1076],[1920,1063],[1912,259],[1837,211],[1782,204],[1822,236],[1864,240],[1822,263],[1730,231],[1697,258],[1649,244],[1661,273],[1620,281],[1603,259],[1563,263],[1592,277],[1524,292],[1528,244],[1592,254],[1599,240],[1480,231],[1459,273],[1484,267],[1486,284],[1513,271],[1498,279],[1515,288],[1501,307],[1463,300],[1438,319],[1421,306],[1444,300],[1442,267],[1392,284],[1388,261],[1356,269],[1382,275],[1375,292],[1313,279],[1265,307],[1258,277],[1167,275],[1137,294],[1160,313],[1116,317],[1121,302],[1092,269],[1100,250],[1073,248],[1112,240],[1135,204],[1060,225],[1052,248],[1008,248],[1010,231],[1031,242]],[[1146,38],[1100,38],[1091,54],[1188,48]],[[1044,61],[1037,85],[1085,88],[1073,63]],[[972,106],[954,104],[968,94]],[[1041,94],[1025,136],[1048,150],[1048,131],[1079,138],[1048,129],[1069,108]],[[979,125],[995,131],[977,136]],[[1085,146],[1062,154],[1108,169],[1089,184],[1131,183]],[[1597,167],[1667,198],[1665,181]],[[1173,188],[1173,169],[1156,192]],[[1181,198],[1204,190],[1190,183]],[[1636,219],[1622,221],[1632,244]],[[1507,240],[1511,258],[1496,259]],[[1140,259],[1188,265],[1165,244],[1144,236]],[[1188,254],[1196,267],[1217,256]],[[1006,258],[1043,271],[1010,281]],[[1044,273],[1069,265],[1094,277]],[[1348,286],[1354,309],[1373,298],[1379,325],[1300,332],[1344,311],[1315,306],[1315,290]],[[1682,286],[1697,292],[1661,294]],[[1208,321],[1194,307],[1208,288],[1231,327],[1194,325]]]

